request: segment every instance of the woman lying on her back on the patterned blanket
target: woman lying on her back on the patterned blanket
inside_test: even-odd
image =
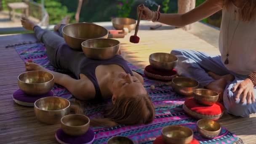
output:
[[[61,37],[62,27],[68,24],[65,17],[54,27],[56,32],[41,29],[23,17],[21,24],[33,30],[37,40],[45,44],[47,56],[54,67],[66,69],[75,75],[53,72],[27,61],[27,70],[42,70],[54,75],[54,82],[67,88],[75,98],[82,101],[112,98],[106,108],[104,118],[91,120],[94,126],[113,126],[117,124],[147,124],[155,118],[155,108],[143,86],[143,78],[131,71],[122,56],[116,55],[105,61],[95,61],[85,57],[83,52],[69,48]]]

